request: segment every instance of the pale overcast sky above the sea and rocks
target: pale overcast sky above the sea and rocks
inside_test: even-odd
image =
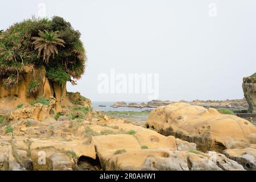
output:
[[[243,98],[256,71],[255,0],[1,1],[1,27],[38,15],[63,16],[82,34],[88,63],[78,85],[92,101],[147,101],[148,94],[100,94],[100,73],[159,73],[159,99]],[[217,16],[210,16],[212,5]]]

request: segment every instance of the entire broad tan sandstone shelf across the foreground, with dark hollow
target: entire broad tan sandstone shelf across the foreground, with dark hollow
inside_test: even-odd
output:
[[[20,117],[10,123],[13,131],[6,132],[7,126],[2,126],[0,169],[243,170],[221,154],[196,151],[195,143],[105,117],[99,111],[87,117],[82,121],[67,115],[57,121]]]

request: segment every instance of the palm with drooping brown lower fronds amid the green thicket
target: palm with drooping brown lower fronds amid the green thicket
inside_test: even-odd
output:
[[[59,38],[59,31],[40,31],[38,33],[38,37],[32,37],[35,44],[35,49],[38,49],[38,58],[41,56],[41,52],[43,51],[43,60],[46,61],[46,64],[49,62],[49,57],[52,55],[54,59],[55,53],[58,53],[57,46],[64,46],[64,40]]]

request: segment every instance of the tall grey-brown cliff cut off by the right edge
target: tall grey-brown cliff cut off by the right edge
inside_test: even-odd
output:
[[[256,113],[256,77],[243,78],[242,88],[249,104],[249,113]]]

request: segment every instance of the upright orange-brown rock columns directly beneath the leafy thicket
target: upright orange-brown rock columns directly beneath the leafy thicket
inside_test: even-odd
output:
[[[60,85],[49,81],[46,77],[46,68],[44,66],[34,69],[26,66],[23,71],[22,79],[13,89],[7,89],[3,84],[3,79],[0,78],[0,109],[16,109],[19,104],[28,104],[31,100],[40,97],[49,98],[53,96],[56,98],[55,110],[57,112],[61,111],[61,106],[65,106],[66,83]],[[39,82],[40,89],[36,96],[28,96],[28,85],[34,79]]]

